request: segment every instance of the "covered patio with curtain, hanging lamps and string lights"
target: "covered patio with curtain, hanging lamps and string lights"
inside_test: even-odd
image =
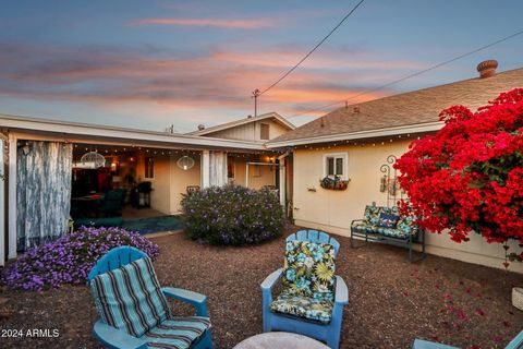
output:
[[[284,188],[281,153],[263,144],[9,116],[1,121],[9,176],[0,195],[7,207],[0,264],[72,225],[101,219],[121,226],[144,218],[143,209],[151,209],[147,217],[178,215],[187,191],[227,183]],[[284,190],[281,195],[284,202]]]

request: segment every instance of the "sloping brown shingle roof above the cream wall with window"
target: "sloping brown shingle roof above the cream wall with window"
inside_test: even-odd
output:
[[[436,131],[442,125],[441,110],[453,105],[476,110],[501,92],[515,87],[523,87],[523,68],[354,104],[282,134],[267,146]]]

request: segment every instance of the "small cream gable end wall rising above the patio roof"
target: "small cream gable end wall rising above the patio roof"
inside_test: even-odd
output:
[[[275,122],[270,119],[260,120],[255,122],[250,122],[246,124],[242,124],[235,128],[212,132],[206,134],[205,136],[209,137],[217,137],[217,139],[228,139],[228,140],[239,140],[239,141],[251,141],[251,142],[266,142],[267,140],[260,139],[260,124],[268,123],[269,124],[269,139],[276,139],[277,136],[288,132],[285,128],[283,128],[278,122]]]

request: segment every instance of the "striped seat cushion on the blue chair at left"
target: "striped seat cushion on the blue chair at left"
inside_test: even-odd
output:
[[[208,317],[172,317],[147,332],[141,339],[148,348],[186,349],[210,328]]]

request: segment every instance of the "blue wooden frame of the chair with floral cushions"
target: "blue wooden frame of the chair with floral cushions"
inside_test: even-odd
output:
[[[287,242],[307,241],[315,243],[327,243],[333,246],[338,255],[340,243],[328,233],[317,230],[302,230],[287,238]],[[343,306],[349,304],[349,290],[340,276],[336,276],[335,304],[329,323],[321,323],[302,318],[270,310],[272,302],[272,288],[282,277],[283,268],[270,274],[262,282],[262,308],[264,317],[264,333],[271,330],[284,330],[302,334],[327,342],[330,348],[337,349],[340,344],[341,322]]]

